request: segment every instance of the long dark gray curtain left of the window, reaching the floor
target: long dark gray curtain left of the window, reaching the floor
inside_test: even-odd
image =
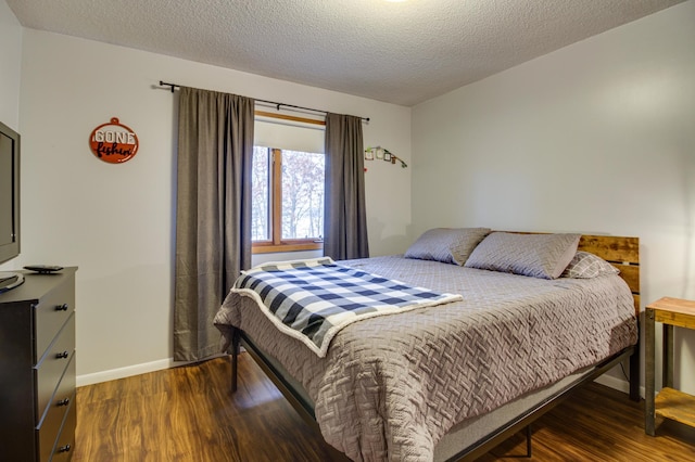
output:
[[[174,359],[219,352],[215,312],[251,266],[254,100],[182,87],[178,117]]]

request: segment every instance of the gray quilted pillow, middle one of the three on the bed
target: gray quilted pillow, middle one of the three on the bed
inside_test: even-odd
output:
[[[577,254],[580,238],[493,232],[470,254],[466,267],[556,279]]]

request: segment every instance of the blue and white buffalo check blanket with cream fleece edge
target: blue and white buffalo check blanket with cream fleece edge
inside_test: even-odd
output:
[[[254,298],[280,331],[320,358],[352,322],[463,299],[343,267],[328,257],[242,271],[231,292]]]

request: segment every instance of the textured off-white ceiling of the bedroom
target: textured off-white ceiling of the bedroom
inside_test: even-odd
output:
[[[406,106],[681,1],[7,0],[25,27]]]

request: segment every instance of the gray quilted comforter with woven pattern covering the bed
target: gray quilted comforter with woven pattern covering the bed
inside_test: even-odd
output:
[[[594,364],[637,339],[618,275],[541,280],[400,256],[341,261],[463,301],[348,325],[325,358],[278,334],[248,297],[215,317],[304,386],[326,441],[355,461],[430,461],[454,424]]]

